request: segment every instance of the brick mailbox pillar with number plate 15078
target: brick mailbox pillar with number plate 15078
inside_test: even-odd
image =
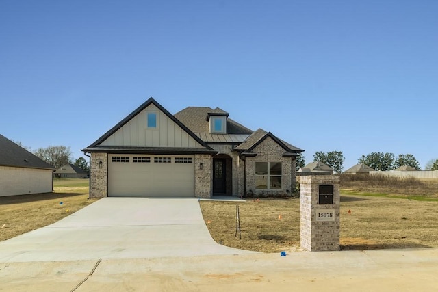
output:
[[[339,176],[300,176],[301,247],[339,250]]]

